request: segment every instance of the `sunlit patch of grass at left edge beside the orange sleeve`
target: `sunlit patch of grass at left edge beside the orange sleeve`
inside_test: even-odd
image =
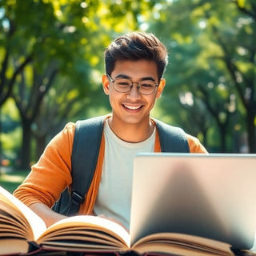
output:
[[[0,173],[0,186],[13,193],[14,190],[26,178],[29,171],[26,170],[12,170]]]

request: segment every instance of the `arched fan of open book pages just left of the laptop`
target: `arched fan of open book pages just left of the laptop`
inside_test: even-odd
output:
[[[80,235],[80,243],[85,240],[90,241],[90,237],[102,239],[102,243],[111,241],[120,248],[127,248],[130,243],[130,235],[117,223],[97,216],[78,215],[54,223],[38,238],[38,244],[47,242],[48,239],[54,241],[54,237],[57,240],[58,236],[64,234],[66,240],[76,238],[76,241],[78,241],[76,235]]]

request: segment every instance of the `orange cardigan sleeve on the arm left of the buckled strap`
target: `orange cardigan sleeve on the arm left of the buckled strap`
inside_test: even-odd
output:
[[[42,202],[53,206],[62,190],[72,182],[70,170],[75,124],[69,122],[46,146],[30,174],[14,191],[14,196],[27,206]]]

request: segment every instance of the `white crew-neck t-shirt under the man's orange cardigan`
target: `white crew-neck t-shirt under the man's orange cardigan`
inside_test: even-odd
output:
[[[106,122],[104,136],[102,179],[94,213],[114,218],[129,228],[134,157],[139,152],[154,151],[155,129],[145,141],[130,143],[118,138]]]

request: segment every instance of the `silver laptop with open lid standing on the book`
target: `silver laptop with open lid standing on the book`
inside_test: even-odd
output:
[[[131,242],[176,232],[250,249],[256,230],[256,154],[138,154]]]

